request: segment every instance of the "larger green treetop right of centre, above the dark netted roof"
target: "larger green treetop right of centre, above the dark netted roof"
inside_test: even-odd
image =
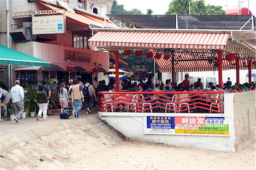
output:
[[[166,15],[189,14],[189,3],[191,3],[191,15],[225,15],[221,6],[205,5],[204,0],[172,0]]]

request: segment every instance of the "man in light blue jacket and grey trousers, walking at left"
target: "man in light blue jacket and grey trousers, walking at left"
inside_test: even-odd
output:
[[[15,117],[14,120],[16,123],[20,123],[19,119],[22,117],[22,113],[24,112],[24,89],[22,86],[20,86],[20,81],[15,80],[15,86],[11,88],[11,100],[13,101],[14,105],[14,112],[15,112]]]

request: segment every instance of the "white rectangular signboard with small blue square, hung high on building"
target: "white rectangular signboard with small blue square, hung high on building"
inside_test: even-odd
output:
[[[66,32],[64,15],[33,16],[32,34],[60,34]]]

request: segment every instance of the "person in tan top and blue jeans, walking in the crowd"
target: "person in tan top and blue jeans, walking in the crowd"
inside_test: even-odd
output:
[[[71,89],[71,101],[75,105],[76,118],[80,118],[79,111],[82,109],[82,102],[84,102],[84,95],[82,94],[82,86],[79,85],[79,80],[74,79],[74,85]]]

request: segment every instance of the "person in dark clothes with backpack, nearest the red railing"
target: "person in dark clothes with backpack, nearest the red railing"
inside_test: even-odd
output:
[[[93,85],[90,84],[89,79],[85,80],[85,85],[82,92],[84,94],[84,99],[85,99],[86,113],[89,114],[91,113],[90,110],[92,110],[92,107],[93,107],[94,98],[96,98],[95,90],[93,88]]]

